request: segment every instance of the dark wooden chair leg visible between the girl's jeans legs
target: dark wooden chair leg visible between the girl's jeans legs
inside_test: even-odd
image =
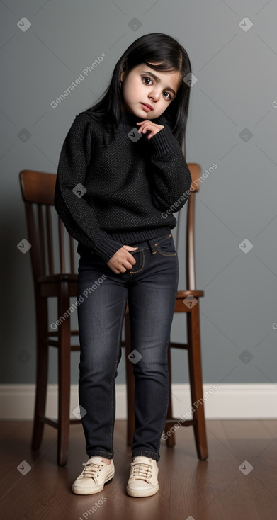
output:
[[[131,351],[130,317],[125,314],[125,374],[127,387],[127,446],[132,446],[135,432],[135,375],[128,358]]]

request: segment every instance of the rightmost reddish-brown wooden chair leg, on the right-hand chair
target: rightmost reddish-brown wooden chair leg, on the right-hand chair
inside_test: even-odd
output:
[[[193,425],[194,437],[196,441],[196,450],[198,458],[205,460],[208,458],[208,447],[205,431],[205,412],[203,401],[203,383],[202,368],[200,355],[200,319],[199,319],[199,300],[194,305],[191,312],[187,313],[188,317],[188,366],[191,382],[191,402],[193,407],[193,419],[196,424]]]

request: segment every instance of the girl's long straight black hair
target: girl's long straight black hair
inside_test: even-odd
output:
[[[191,73],[191,62],[186,50],[171,36],[164,33],[150,33],[131,43],[115,65],[111,82],[103,92],[100,101],[87,109],[94,113],[99,123],[111,125],[112,140],[115,138],[122,113],[120,73],[125,71],[128,74],[134,67],[142,63],[156,71],[180,72],[182,79]],[[162,114],[181,146],[186,134],[189,96],[190,87],[185,81],[181,81],[176,98],[171,101]]]

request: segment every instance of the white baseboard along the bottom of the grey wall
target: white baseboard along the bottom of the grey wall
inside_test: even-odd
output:
[[[116,419],[127,418],[126,385],[116,384]],[[174,417],[188,417],[191,409],[189,385],[172,385]],[[215,384],[203,385],[206,419],[277,419],[277,385]],[[32,420],[35,385],[0,385],[0,419]],[[79,406],[78,385],[71,387],[71,416]],[[194,405],[194,407],[196,407]],[[57,419],[57,386],[48,385],[47,417]]]

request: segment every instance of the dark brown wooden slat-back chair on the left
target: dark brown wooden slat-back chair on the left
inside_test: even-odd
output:
[[[70,317],[48,330],[47,298],[57,298],[58,317],[69,310],[70,297],[77,296],[77,276],[74,266],[74,239],[69,237],[58,216],[60,273],[54,273],[53,227],[50,206],[54,205],[56,174],[23,170],[19,174],[21,193],[26,208],[30,259],[33,271],[36,312],[36,392],[33,421],[32,449],[38,450],[43,439],[44,425],[57,429],[57,464],[67,463],[69,424],[80,424],[81,419],[70,419],[70,353],[79,351],[71,345],[71,337],[79,335],[71,330]],[[35,211],[35,207],[37,211]],[[37,215],[36,215],[37,213]],[[46,225],[45,225],[46,222]],[[55,220],[56,222],[56,220]],[[69,237],[69,272],[65,269],[64,232]],[[57,337],[57,339],[55,339]],[[58,419],[45,417],[48,375],[48,346],[58,351]]]

